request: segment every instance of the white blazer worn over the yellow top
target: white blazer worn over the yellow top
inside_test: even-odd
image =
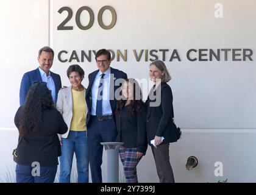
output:
[[[86,88],[85,88],[85,92],[86,92]],[[88,107],[87,107],[86,101],[85,101],[85,107],[86,107],[85,116],[87,116]],[[56,108],[62,114],[63,119],[66,122],[66,125],[68,126],[68,131],[63,135],[59,135],[59,139],[61,140],[61,138],[68,137],[71,120],[73,117],[72,86],[60,89],[58,93]]]

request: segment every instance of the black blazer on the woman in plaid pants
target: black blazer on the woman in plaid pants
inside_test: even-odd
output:
[[[123,107],[116,114],[116,129],[118,136],[116,141],[124,142],[124,147],[137,147],[137,152],[146,154],[148,147],[146,133],[146,106],[141,102],[141,112],[130,116],[128,111],[129,105]]]

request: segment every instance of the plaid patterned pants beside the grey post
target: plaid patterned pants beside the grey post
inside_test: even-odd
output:
[[[136,157],[136,147],[119,147],[119,156],[124,166],[124,176],[127,183],[138,183],[136,166],[141,158]]]

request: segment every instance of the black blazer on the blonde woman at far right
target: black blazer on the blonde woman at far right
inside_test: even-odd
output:
[[[159,92],[158,92],[159,91]],[[148,100],[146,105],[148,108],[146,116],[146,128],[148,135],[148,143],[150,144],[151,140],[154,140],[155,135],[158,137],[164,137],[163,143],[171,143],[177,141],[176,132],[173,125],[173,107],[172,107],[172,91],[171,87],[166,82],[161,83],[157,87],[157,94],[161,94],[161,98],[157,96],[158,100],[161,99],[160,105],[157,107],[152,107],[149,104],[154,102],[149,97],[152,96],[153,88],[149,93]]]

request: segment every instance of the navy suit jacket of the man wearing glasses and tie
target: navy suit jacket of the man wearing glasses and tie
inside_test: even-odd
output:
[[[91,113],[91,87],[93,86],[93,81],[97,75],[97,73],[99,72],[99,70],[94,71],[93,73],[90,73],[88,75],[88,79],[89,79],[89,85],[87,87],[86,90],[86,94],[85,94],[85,99],[86,99],[86,103],[88,106],[88,113],[87,113],[87,127],[88,127],[88,123],[90,121],[90,113]],[[116,79],[127,79],[127,74],[124,73],[123,71],[119,71],[119,69],[115,69],[115,68],[111,68],[110,67],[110,74],[113,74],[114,77],[110,77],[110,83],[114,83]],[[110,85],[110,106],[112,109],[112,113],[115,112],[115,108],[116,108],[116,98],[114,96],[115,91],[121,86],[121,84],[119,86],[112,86]]]

